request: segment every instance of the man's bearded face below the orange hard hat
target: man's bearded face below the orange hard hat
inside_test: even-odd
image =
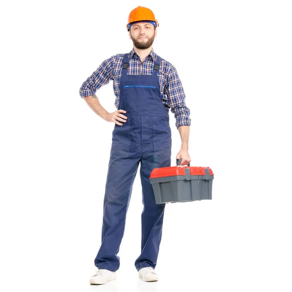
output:
[[[129,37],[137,49],[148,49],[156,37],[156,30],[149,22],[137,22],[130,27]]]

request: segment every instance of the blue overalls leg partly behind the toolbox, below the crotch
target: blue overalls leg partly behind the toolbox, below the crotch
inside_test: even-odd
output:
[[[153,269],[157,263],[159,246],[162,238],[162,227],[165,203],[156,204],[155,195],[149,177],[153,168],[170,166],[171,159],[165,157],[142,158],[140,175],[142,183],[142,202],[144,205],[142,223],[141,255],[135,261],[137,271],[145,267]]]

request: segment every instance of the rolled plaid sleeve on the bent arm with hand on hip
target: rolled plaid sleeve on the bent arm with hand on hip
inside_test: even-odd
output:
[[[95,94],[102,86],[113,80],[112,68],[114,66],[115,56],[104,60],[100,66],[89,76],[81,85],[79,94],[80,97],[87,97]]]

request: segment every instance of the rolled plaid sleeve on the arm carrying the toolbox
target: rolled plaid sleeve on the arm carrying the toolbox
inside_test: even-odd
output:
[[[174,113],[176,119],[176,127],[190,126],[190,110],[186,107],[184,99],[185,93],[179,75],[173,65],[170,66],[167,74],[167,85],[164,94],[169,100],[170,110]]]

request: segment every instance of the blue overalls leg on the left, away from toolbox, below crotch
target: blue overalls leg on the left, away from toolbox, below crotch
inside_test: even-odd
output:
[[[110,157],[103,209],[102,242],[94,264],[115,272],[124,236],[126,215],[140,158]]]

